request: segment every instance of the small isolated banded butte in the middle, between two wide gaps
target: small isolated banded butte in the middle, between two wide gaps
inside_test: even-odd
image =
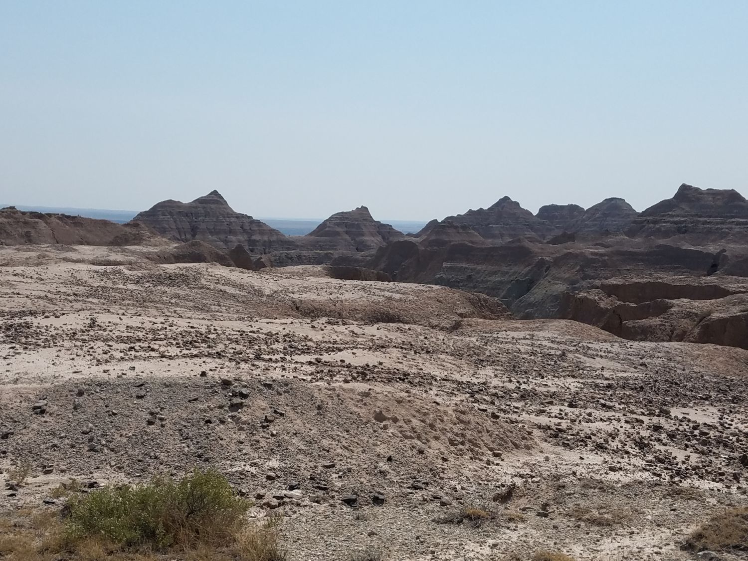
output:
[[[390,224],[375,221],[366,206],[337,212],[303,238],[304,245],[319,250],[367,251],[405,239]]]

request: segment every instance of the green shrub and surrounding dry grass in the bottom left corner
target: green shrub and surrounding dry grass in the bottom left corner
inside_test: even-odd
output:
[[[55,489],[69,497],[65,518],[49,510],[0,518],[0,558],[151,561],[175,553],[188,561],[286,558],[278,540],[280,517],[248,525],[251,503],[214,470],[73,495],[77,488],[73,480]]]

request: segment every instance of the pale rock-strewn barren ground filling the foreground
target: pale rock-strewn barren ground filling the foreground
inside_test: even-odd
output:
[[[0,248],[4,515],[197,465],[281,518],[289,560],[640,561],[696,559],[748,505],[744,349],[145,251]]]

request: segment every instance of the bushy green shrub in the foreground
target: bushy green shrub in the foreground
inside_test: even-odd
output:
[[[217,471],[194,470],[73,497],[65,533],[127,546],[220,545],[233,541],[250,506]]]

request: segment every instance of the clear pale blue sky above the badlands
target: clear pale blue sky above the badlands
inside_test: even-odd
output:
[[[748,195],[748,2],[0,0],[0,200],[429,220]]]

